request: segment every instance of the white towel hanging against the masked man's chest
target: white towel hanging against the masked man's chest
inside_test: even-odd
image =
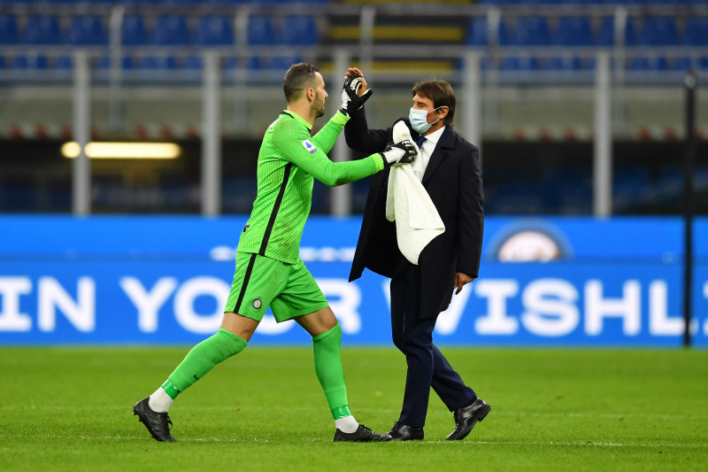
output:
[[[411,132],[403,121],[393,127],[393,139],[400,143],[412,141]],[[418,147],[416,146],[416,149]],[[420,252],[435,236],[443,234],[445,225],[427,195],[423,184],[423,164],[418,157],[412,165],[394,166],[389,174],[389,193],[386,197],[386,219],[396,221],[398,249],[405,259],[418,265]]]

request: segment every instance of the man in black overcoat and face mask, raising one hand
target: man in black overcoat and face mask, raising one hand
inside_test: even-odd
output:
[[[361,74],[349,69],[347,77]],[[366,81],[359,91],[366,90]],[[491,409],[465,385],[433,344],[437,316],[456,293],[477,277],[484,226],[479,151],[452,128],[455,93],[446,81],[421,81],[412,89],[412,109],[403,120],[419,143],[425,168],[422,184],[445,225],[419,255],[419,265],[405,259],[396,243],[396,224],[386,219],[390,169],[373,175],[352,262],[350,282],[364,268],[390,277],[393,342],[405,354],[408,370],[404,404],[389,431],[395,440],[423,439],[430,387],[453,412],[455,429],[447,439],[463,439]],[[396,122],[394,124],[396,124]],[[364,108],[344,127],[351,149],[381,151],[392,143],[393,126],[369,129]],[[424,140],[419,138],[424,137]]]

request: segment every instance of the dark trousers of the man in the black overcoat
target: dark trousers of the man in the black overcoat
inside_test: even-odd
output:
[[[421,428],[426,422],[431,387],[450,411],[469,405],[477,395],[433,344],[437,316],[419,317],[420,268],[408,266],[391,279],[390,288],[393,344],[405,354],[408,364],[398,422]]]

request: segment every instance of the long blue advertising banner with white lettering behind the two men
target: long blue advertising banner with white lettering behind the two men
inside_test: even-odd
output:
[[[193,344],[219,329],[245,217],[0,217],[0,344]],[[345,344],[390,344],[388,279],[347,282],[360,219],[312,217],[301,257]],[[679,218],[486,221],[480,278],[439,344],[682,345]],[[695,226],[692,344],[708,345],[708,219]],[[270,313],[270,312],[268,312]],[[310,344],[267,315],[256,344]]]

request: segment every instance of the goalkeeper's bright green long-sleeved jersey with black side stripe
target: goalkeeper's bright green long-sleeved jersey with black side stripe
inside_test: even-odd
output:
[[[266,130],[258,151],[258,194],[238,251],[294,264],[312,205],[313,179],[328,186],[363,179],[383,168],[378,154],[332,162],[327,152],[349,120],[336,112],[316,135],[295,112],[284,111]]]

